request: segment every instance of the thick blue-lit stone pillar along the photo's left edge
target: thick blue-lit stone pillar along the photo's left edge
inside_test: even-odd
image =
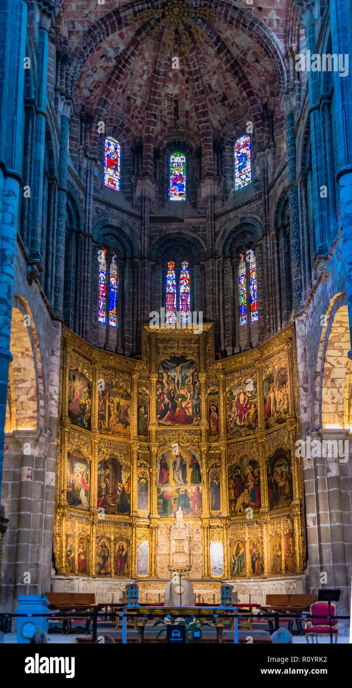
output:
[[[23,91],[28,6],[24,0],[5,0],[0,30],[4,37],[0,61],[0,493],[3,439],[8,396],[8,367],[14,265],[21,187]]]

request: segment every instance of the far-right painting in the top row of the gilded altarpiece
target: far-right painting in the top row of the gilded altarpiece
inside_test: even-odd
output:
[[[284,423],[289,415],[287,367],[272,367],[263,380],[265,429]]]

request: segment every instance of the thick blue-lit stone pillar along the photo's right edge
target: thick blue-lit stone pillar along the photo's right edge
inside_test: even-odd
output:
[[[336,71],[332,72],[332,76],[338,153],[336,180],[340,187],[342,255],[345,266],[344,290],[347,292],[352,342],[352,28],[349,0],[330,0],[330,22],[331,52],[349,55],[348,74],[341,76]],[[349,351],[349,358],[352,358],[352,350]]]

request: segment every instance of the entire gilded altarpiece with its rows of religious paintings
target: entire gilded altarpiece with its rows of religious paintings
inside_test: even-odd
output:
[[[165,580],[186,552],[195,581],[301,574],[298,423],[292,327],[218,361],[210,323],[143,325],[142,361],[63,330],[58,573]]]

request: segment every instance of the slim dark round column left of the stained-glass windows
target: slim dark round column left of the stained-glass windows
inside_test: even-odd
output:
[[[58,214],[56,226],[55,301],[54,314],[63,319],[65,230],[67,201],[67,145],[69,138],[69,114],[71,105],[63,102],[60,126],[60,153],[58,160]]]

